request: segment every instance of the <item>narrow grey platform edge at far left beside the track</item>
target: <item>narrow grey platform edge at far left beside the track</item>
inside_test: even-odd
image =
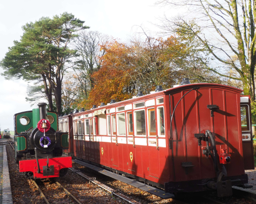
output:
[[[13,203],[7,152],[5,145],[0,145],[0,204],[1,203]]]

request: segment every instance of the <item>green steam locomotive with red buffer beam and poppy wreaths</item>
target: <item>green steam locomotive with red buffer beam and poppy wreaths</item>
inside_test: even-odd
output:
[[[71,157],[61,157],[68,149],[68,133],[58,131],[57,113],[37,109],[14,115],[15,161],[27,179],[64,176],[72,167]]]

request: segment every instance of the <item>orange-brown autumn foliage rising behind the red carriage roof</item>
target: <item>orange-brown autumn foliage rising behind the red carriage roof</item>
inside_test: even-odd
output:
[[[138,89],[147,94],[157,85],[170,88],[179,77],[173,66],[182,60],[185,45],[170,36],[166,40],[132,41],[130,45],[113,41],[101,49],[106,54],[101,58],[101,68],[92,75],[94,88],[89,99],[80,104],[87,109],[102,102],[110,103],[111,99],[129,99]]]

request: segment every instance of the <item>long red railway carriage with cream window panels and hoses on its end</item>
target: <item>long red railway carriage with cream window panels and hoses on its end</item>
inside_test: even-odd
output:
[[[250,98],[241,92],[187,84],[112,100],[59,121],[69,122],[69,154],[76,159],[166,192],[217,189],[226,196],[231,186],[248,183],[245,168],[254,169]]]

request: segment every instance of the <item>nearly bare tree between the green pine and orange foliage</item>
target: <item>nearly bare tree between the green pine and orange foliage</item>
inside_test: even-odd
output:
[[[102,56],[105,54],[105,50],[101,49],[100,45],[105,44],[109,39],[110,37],[97,31],[85,30],[74,39],[74,47],[78,55],[73,69],[82,87],[83,98],[87,98],[94,87],[92,74],[99,70]]]

